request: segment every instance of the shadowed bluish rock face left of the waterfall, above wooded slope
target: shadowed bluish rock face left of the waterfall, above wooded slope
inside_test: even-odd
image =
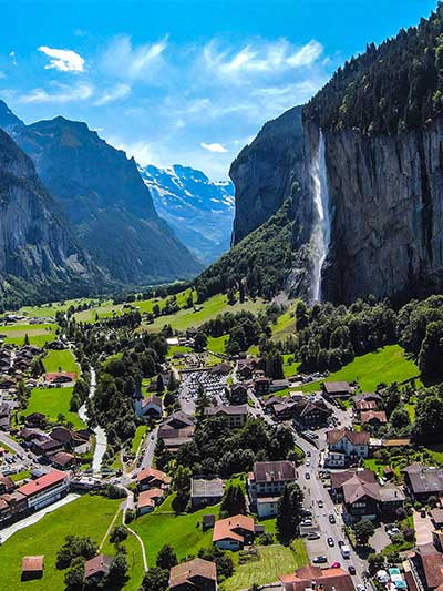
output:
[[[303,176],[301,106],[269,121],[233,162],[236,186],[233,244],[265,223],[291,196]]]

